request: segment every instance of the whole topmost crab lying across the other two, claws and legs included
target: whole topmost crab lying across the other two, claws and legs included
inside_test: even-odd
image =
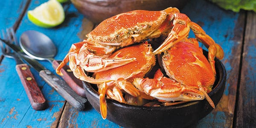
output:
[[[135,58],[108,58],[116,49],[129,46],[146,39],[166,37],[165,41],[154,50],[159,54],[177,42],[186,38],[189,30],[209,50],[209,57],[223,58],[222,48],[196,23],[192,22],[177,8],[169,7],[162,11],[134,10],[110,17],[100,23],[92,32],[87,34],[87,39],[73,44],[69,53],[56,68],[56,73],[63,75],[60,69],[70,61],[70,69],[74,75],[89,83],[101,84],[110,80],[96,80],[84,73],[99,72],[119,67]],[[213,65],[213,62],[210,62]]]

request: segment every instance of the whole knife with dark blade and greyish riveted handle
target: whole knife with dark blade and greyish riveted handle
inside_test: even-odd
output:
[[[33,67],[36,71],[38,71],[41,78],[43,78],[47,84],[54,88],[68,103],[70,103],[70,105],[72,105],[77,110],[83,110],[85,108],[87,99],[79,96],[64,80],[53,74],[34,58],[25,55],[20,47],[17,47],[15,44],[10,44],[8,41],[3,39],[0,40],[3,41],[3,43],[5,43],[11,49],[13,49],[17,55],[20,55],[20,57],[23,58],[30,67]]]

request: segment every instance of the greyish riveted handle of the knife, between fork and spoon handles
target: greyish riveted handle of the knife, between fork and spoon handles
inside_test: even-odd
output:
[[[78,110],[83,110],[85,108],[87,99],[79,96],[64,80],[51,73],[49,70],[41,70],[39,75],[74,108]]]

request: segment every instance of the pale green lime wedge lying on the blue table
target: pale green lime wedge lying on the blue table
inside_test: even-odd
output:
[[[65,19],[65,13],[61,3],[57,0],[49,0],[28,11],[28,18],[37,26],[50,28],[61,24]]]

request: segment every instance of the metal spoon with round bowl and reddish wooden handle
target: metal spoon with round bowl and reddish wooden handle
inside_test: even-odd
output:
[[[28,30],[20,36],[20,47],[32,58],[38,60],[47,60],[52,63],[52,67],[56,69],[61,61],[56,61],[53,57],[57,53],[57,49],[52,40],[41,32]],[[77,79],[69,66],[61,69],[64,74],[62,78],[67,84],[81,97],[85,97],[85,90],[82,87],[82,81]]]

